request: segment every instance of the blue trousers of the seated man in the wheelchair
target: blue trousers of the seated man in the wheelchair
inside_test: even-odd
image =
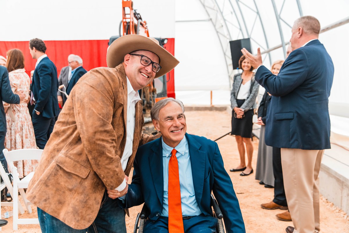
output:
[[[200,214],[190,219],[183,219],[185,233],[214,233],[217,219]],[[159,217],[157,221],[147,220],[144,233],[169,233],[169,218]]]

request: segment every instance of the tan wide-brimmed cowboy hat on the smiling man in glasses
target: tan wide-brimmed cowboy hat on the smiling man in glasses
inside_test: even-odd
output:
[[[170,72],[179,61],[159,45],[157,39],[141,35],[126,35],[116,39],[107,51],[108,67],[116,67],[124,61],[126,54],[136,50],[148,50],[160,58],[161,70],[155,74],[155,78]]]

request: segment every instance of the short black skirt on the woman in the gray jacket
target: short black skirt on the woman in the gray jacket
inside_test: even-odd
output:
[[[245,102],[245,100],[236,100],[238,108]],[[243,138],[252,138],[252,117],[253,109],[245,112],[245,117],[238,119],[234,117],[234,110],[231,117],[231,134],[238,135]]]

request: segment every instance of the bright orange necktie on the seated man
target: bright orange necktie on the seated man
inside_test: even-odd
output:
[[[184,233],[176,152],[172,150],[169,162],[169,233]]]

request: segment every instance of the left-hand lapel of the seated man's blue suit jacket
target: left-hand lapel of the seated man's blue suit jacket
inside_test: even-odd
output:
[[[155,142],[156,141],[156,142]],[[161,206],[164,201],[164,175],[162,166],[162,144],[161,138],[154,141],[149,155],[149,167],[154,187]]]

